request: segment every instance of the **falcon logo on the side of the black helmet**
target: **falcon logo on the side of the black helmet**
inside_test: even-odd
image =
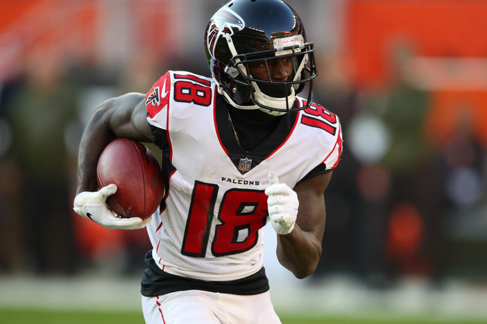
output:
[[[217,11],[210,19],[210,26],[207,30],[208,51],[215,57],[215,44],[221,35],[233,35],[233,28],[242,30],[245,28],[245,21],[230,8],[223,8]]]

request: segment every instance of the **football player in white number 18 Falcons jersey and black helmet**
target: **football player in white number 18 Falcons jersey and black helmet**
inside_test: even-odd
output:
[[[280,323],[262,227],[273,226],[284,267],[314,272],[339,119],[311,101],[314,45],[283,1],[226,3],[207,25],[205,53],[212,78],[168,71],[146,95],[99,105],[80,142],[74,210],[108,228],[146,226],[146,323]],[[96,162],[114,138],[162,149],[166,193],[151,219],[116,217],[105,204],[116,186],[97,191]]]

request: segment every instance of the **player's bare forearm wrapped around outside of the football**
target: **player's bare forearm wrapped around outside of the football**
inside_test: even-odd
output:
[[[106,105],[101,105],[89,119],[78,149],[78,186],[76,193],[96,191],[96,163],[105,146],[114,139],[105,123]]]

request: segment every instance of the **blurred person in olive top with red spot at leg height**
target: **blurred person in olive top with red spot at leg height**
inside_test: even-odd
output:
[[[381,161],[391,179],[384,261],[389,275],[429,276],[439,222],[438,177],[424,134],[429,93],[408,78],[413,44],[398,40],[390,54],[389,87],[376,107],[389,136]]]

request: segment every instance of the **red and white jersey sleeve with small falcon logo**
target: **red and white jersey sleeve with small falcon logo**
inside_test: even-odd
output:
[[[167,129],[171,84],[171,71],[167,71],[146,94],[147,121],[160,129]]]

